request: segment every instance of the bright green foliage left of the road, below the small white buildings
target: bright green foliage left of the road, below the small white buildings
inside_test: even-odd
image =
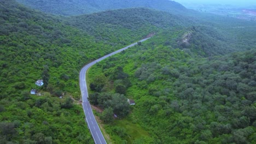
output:
[[[1,100],[0,103],[7,102]],[[43,96],[31,97],[27,103],[12,101],[7,104],[9,104],[7,110],[1,112],[2,142],[94,142],[84,122],[83,110],[78,105],[61,109],[65,100]],[[78,136],[82,136],[83,139]]]

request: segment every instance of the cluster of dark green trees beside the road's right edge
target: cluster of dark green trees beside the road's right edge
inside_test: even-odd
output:
[[[103,68],[108,67],[107,65],[104,64]],[[111,73],[109,73],[110,71]],[[130,106],[125,94],[131,82],[121,67],[106,71],[106,75],[112,77],[113,81],[108,82],[105,75],[95,75],[94,73],[94,79],[90,80],[92,81],[90,83],[90,89],[94,93],[90,94],[89,100],[92,105],[104,109],[101,119],[106,123],[111,123],[113,122],[113,114],[120,118],[129,114]],[[114,89],[114,92],[106,93],[107,91],[111,91],[111,89]]]

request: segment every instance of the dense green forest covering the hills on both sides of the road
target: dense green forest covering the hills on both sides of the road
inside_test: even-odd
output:
[[[184,10],[157,2],[148,5]],[[127,8],[113,4],[97,10]],[[89,73],[91,103],[106,108],[96,115],[113,143],[255,142],[255,23],[158,10],[63,17],[0,1],[0,143],[93,143],[78,101],[80,68],[153,34]],[[219,56],[237,51],[247,52]]]

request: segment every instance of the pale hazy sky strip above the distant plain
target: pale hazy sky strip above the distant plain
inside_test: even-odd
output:
[[[232,4],[232,5],[256,5],[256,0],[173,0],[181,4]]]

